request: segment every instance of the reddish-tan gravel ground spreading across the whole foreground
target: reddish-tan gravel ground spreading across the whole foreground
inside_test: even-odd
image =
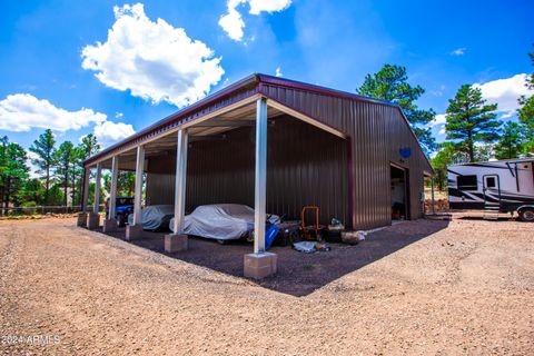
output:
[[[0,221],[0,354],[534,354],[532,224],[409,221],[344,257],[394,238],[296,296],[73,219]]]

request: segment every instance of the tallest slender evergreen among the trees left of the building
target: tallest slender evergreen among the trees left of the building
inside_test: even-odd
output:
[[[31,162],[39,167],[37,172],[41,174],[41,179],[44,179],[44,204],[49,204],[50,178],[55,165],[55,145],[56,139],[53,138],[52,130],[47,129],[30,147],[30,151],[37,155],[37,158],[32,159]]]

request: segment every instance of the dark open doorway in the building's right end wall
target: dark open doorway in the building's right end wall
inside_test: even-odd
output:
[[[409,220],[409,181],[408,170],[390,166],[392,182],[392,222]]]

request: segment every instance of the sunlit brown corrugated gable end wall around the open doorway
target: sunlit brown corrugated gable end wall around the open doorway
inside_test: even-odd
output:
[[[281,86],[264,85],[261,92],[349,136],[354,228],[390,222],[390,162],[409,169],[411,217],[421,217],[423,171],[432,168],[398,108]],[[409,147],[412,157],[403,160],[402,147]]]

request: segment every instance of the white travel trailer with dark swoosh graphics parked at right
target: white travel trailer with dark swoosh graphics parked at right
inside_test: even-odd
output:
[[[534,221],[534,159],[454,165],[447,168],[452,209],[483,209],[485,219],[517,212]]]

